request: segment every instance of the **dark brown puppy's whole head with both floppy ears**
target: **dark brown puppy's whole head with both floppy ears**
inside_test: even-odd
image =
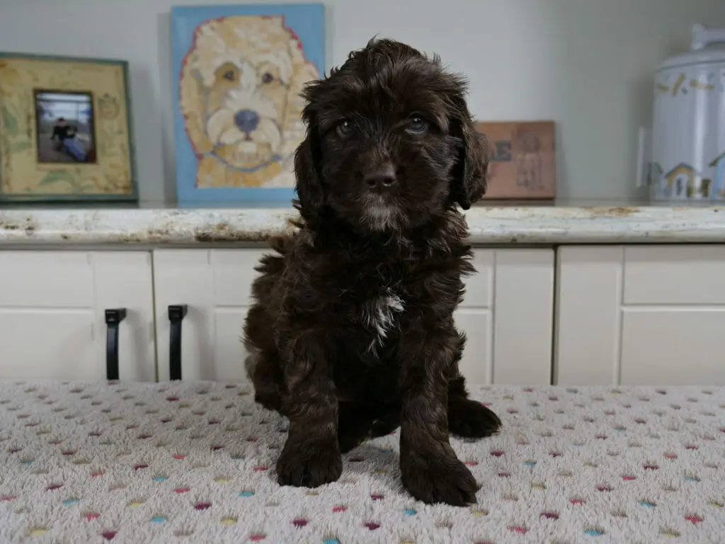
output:
[[[486,191],[488,150],[466,82],[437,57],[370,41],[307,85],[307,136],[297,148],[299,210],[323,208],[365,231],[405,231]]]

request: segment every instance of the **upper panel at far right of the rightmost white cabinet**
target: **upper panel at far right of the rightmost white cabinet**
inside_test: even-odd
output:
[[[725,247],[625,247],[623,302],[725,304]]]

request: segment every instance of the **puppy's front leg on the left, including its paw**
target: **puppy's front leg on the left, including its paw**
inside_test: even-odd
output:
[[[282,413],[289,419],[289,433],[277,460],[280,485],[318,487],[342,473],[338,403],[323,339],[305,332],[292,338],[286,350],[288,391]]]

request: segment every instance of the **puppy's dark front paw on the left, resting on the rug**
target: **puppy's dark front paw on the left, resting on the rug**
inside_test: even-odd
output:
[[[342,474],[342,456],[335,442],[287,440],[277,460],[279,485],[318,487],[335,482]]]

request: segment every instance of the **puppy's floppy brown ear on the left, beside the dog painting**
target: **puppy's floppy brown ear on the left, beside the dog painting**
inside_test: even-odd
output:
[[[313,218],[325,202],[322,184],[320,131],[312,118],[307,118],[307,133],[294,152],[294,176],[297,178],[299,212],[305,219]]]

